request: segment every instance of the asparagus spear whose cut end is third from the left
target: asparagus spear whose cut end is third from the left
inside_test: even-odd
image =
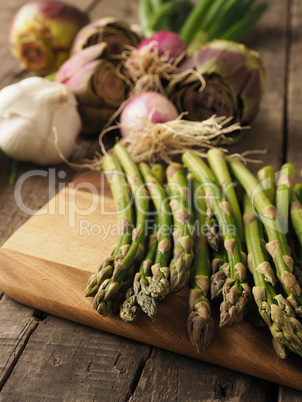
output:
[[[146,163],[140,163],[140,171],[146,182],[151,199],[158,214],[158,246],[155,262],[151,267],[152,277],[149,286],[144,288],[152,297],[162,299],[170,292],[169,261],[172,248],[171,211],[164,188]],[[143,278],[145,280],[145,278]],[[142,302],[144,299],[140,299]],[[146,306],[141,306],[143,309]],[[149,314],[148,314],[149,315]]]

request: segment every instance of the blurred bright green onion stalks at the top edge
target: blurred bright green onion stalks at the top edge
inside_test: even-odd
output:
[[[191,55],[214,39],[241,42],[266,9],[256,0],[140,0],[138,18],[145,37],[177,32]]]

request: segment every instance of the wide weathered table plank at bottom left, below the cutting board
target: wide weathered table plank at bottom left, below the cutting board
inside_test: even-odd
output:
[[[0,400],[126,400],[149,350],[137,342],[50,317],[31,336]]]

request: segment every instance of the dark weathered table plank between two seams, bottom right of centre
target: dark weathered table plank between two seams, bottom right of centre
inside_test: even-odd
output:
[[[271,383],[219,369],[162,349],[153,349],[130,397],[141,401],[273,400]],[[270,399],[271,398],[271,399]]]

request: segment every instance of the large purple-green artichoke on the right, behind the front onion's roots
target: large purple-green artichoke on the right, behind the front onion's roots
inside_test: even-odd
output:
[[[179,112],[188,112],[188,119],[204,120],[216,114],[248,124],[256,116],[265,88],[259,53],[239,43],[216,40],[186,60],[181,71],[188,74],[171,80],[167,93]],[[206,83],[203,90],[198,74]]]

